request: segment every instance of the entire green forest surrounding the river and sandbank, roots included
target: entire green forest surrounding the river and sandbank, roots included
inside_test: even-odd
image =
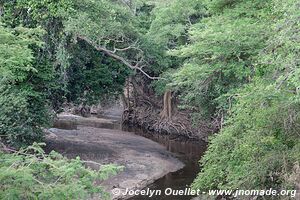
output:
[[[93,182],[122,167],[96,172],[42,146],[65,105],[120,96],[128,123],[208,137],[193,188],[300,190],[299,10],[299,0],[0,0],[0,199],[109,199]]]

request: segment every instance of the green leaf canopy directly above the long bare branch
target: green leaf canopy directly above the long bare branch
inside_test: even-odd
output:
[[[106,45],[122,38],[134,40],[136,22],[124,4],[109,0],[84,0],[76,1],[75,10],[64,22],[67,32]]]

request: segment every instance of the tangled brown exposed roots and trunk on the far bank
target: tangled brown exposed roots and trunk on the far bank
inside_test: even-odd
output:
[[[144,87],[147,84],[143,79],[136,80],[136,77],[128,80],[124,95],[128,99],[123,114],[124,124],[139,126],[154,133],[204,140],[216,131],[217,126],[212,121],[195,125],[189,111],[178,111],[178,101],[171,91],[164,93],[161,102],[154,91]]]

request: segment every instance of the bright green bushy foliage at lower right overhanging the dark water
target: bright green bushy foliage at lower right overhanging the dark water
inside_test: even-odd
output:
[[[286,104],[290,97],[262,82],[240,91],[226,127],[209,145],[194,187],[283,189],[284,178],[300,161],[299,110]]]

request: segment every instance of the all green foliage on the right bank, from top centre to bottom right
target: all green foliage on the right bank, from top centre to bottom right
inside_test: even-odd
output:
[[[194,188],[295,189],[299,5],[297,0],[180,1],[154,10],[149,33],[157,34],[156,41],[164,44],[176,34],[185,38],[165,48],[179,62],[155,84],[158,91],[175,91],[196,119],[222,123]],[[178,16],[171,13],[198,17],[176,24]]]

